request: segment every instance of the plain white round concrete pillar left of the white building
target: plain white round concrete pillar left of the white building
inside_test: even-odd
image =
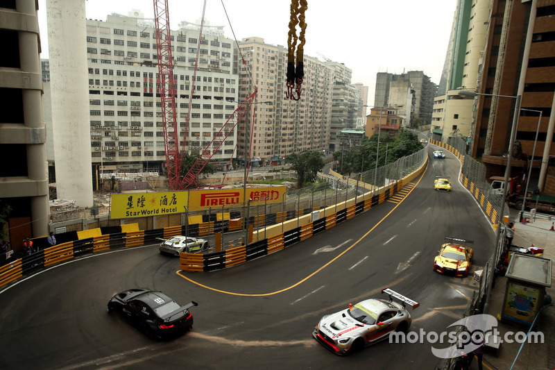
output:
[[[84,0],[47,0],[58,198],[93,205]]]

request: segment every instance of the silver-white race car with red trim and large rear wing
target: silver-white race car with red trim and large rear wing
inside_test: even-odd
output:
[[[316,325],[312,336],[336,355],[347,355],[388,338],[394,330],[406,332],[411,326],[411,314],[405,305],[413,309],[420,303],[386,288],[382,293],[389,301],[370,298],[349,308],[327,314]],[[398,299],[402,304],[393,301]]]

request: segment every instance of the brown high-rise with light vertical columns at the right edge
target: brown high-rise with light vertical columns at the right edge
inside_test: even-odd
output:
[[[515,133],[515,148],[521,150],[511,153],[511,174],[528,166],[536,146],[532,177],[539,178],[543,190],[549,158],[555,155],[555,0],[492,0],[490,14],[477,92],[522,96]],[[504,174],[516,100],[495,96],[475,100],[471,153],[481,158],[488,176]]]

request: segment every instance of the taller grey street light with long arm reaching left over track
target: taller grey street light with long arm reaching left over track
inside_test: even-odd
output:
[[[465,90],[461,90],[459,91],[459,96],[461,97],[465,97],[465,96],[497,96],[497,97],[501,97],[501,98],[511,98],[511,99],[516,99],[515,101],[515,112],[513,113],[513,126],[511,126],[511,138],[509,140],[509,155],[507,155],[507,165],[505,167],[505,179],[504,179],[504,185],[503,185],[503,197],[501,199],[501,209],[499,210],[499,215],[501,217],[501,222],[499,222],[499,224],[497,225],[497,230],[495,230],[495,250],[493,252],[493,255],[491,256],[491,264],[490,264],[490,271],[488,271],[488,281],[486,283],[488,283],[488,290],[486,292],[486,303],[484,304],[484,312],[487,313],[486,308],[488,307],[488,298],[491,292],[491,288],[493,285],[493,271],[495,270],[495,264],[497,264],[497,260],[500,257],[500,252],[501,252],[501,248],[499,248],[499,239],[501,237],[501,226],[502,226],[502,222],[503,222],[503,212],[505,211],[505,203],[507,200],[507,187],[509,185],[509,176],[511,175],[511,158],[513,156],[513,146],[515,144],[515,138],[516,138],[516,126],[518,124],[518,115],[520,112],[520,99],[522,99],[522,96],[520,94],[518,94],[517,96],[511,96],[511,95],[498,95],[498,94],[481,94],[479,92],[472,92],[472,91],[465,91]]]

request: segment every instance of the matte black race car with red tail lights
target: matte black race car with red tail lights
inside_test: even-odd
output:
[[[162,292],[148,289],[129,289],[116,294],[108,302],[108,313],[123,312],[151,338],[162,339],[180,335],[193,326],[189,308],[198,305],[191,301],[180,305]]]

